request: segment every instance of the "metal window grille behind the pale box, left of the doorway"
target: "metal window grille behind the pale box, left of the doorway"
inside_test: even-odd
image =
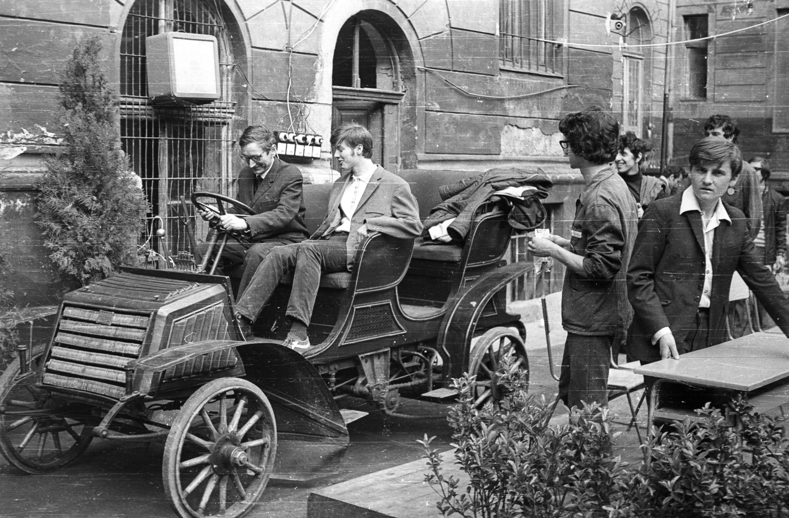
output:
[[[233,60],[215,2],[137,0],[123,29],[121,139],[151,204],[149,220],[164,222],[171,253],[189,250],[180,197],[193,191],[230,194],[235,105],[230,95]],[[214,35],[219,43],[221,97],[208,105],[152,106],[148,102],[145,38],[166,31]],[[205,235],[198,218],[198,237]],[[155,244],[154,244],[155,245]]]

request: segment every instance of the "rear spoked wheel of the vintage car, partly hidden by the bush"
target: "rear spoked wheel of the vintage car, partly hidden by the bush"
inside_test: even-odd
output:
[[[474,387],[474,406],[498,404],[503,398],[499,376],[503,374],[502,363],[518,365],[529,379],[529,358],[518,331],[507,327],[493,327],[477,340],[469,354],[469,374],[477,376]]]

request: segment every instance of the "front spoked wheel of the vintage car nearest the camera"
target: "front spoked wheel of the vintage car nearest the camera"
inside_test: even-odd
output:
[[[165,493],[184,518],[243,516],[263,494],[276,451],[263,391],[245,379],[215,379],[185,402],[167,435]]]

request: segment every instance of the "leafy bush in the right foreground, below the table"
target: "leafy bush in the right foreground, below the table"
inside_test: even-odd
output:
[[[781,420],[732,401],[741,427],[706,405],[694,422],[651,439],[651,462],[627,468],[611,457],[608,409],[591,405],[570,423],[548,427],[544,399],[526,393],[518,369],[501,379],[499,408],[473,408],[472,379],[454,381],[454,457],[469,477],[443,475],[424,437],[428,474],[443,516],[683,518],[789,516],[789,454]]]

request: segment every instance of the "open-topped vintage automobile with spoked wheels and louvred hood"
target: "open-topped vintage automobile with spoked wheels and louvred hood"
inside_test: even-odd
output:
[[[421,216],[457,172],[405,171]],[[550,180],[534,181],[550,187]],[[305,186],[308,227],[320,224],[327,185]],[[248,207],[195,193],[224,212]],[[544,220],[534,198],[535,224]],[[497,397],[505,357],[528,371],[525,327],[507,313],[507,283],[531,261],[506,264],[507,198],[474,211],[462,244],[372,233],[353,272],[324,274],[313,346],[281,345],[287,279],[245,342],[228,276],[124,268],[67,295],[46,346],[30,345],[0,377],[0,450],[23,472],[77,461],[93,438],[166,440],[163,482],[180,516],[241,516],[278,465],[329,462],[349,443],[336,400],[367,398],[398,415],[399,394],[453,401],[451,379],[477,375],[477,402]],[[226,236],[223,238],[226,239]],[[474,344],[471,346],[471,344]],[[278,455],[278,449],[280,454]]]

